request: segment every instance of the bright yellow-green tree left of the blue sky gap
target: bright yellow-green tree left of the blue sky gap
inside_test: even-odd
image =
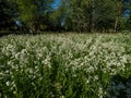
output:
[[[46,27],[50,3],[53,0],[16,0],[19,17],[29,29],[40,30]]]

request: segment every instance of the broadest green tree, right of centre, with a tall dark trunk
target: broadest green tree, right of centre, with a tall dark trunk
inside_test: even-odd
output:
[[[122,1],[119,0],[70,0],[68,27],[76,32],[108,32],[118,29],[122,15]]]

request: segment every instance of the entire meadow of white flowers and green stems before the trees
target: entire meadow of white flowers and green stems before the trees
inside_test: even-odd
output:
[[[0,98],[131,98],[131,34],[1,37]]]

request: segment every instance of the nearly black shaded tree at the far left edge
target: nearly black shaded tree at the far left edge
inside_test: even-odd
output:
[[[14,23],[14,9],[8,0],[0,1],[0,30],[13,30]]]

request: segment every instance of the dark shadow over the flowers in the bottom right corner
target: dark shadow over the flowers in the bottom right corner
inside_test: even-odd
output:
[[[110,79],[105,98],[131,98],[131,76],[115,75]]]

